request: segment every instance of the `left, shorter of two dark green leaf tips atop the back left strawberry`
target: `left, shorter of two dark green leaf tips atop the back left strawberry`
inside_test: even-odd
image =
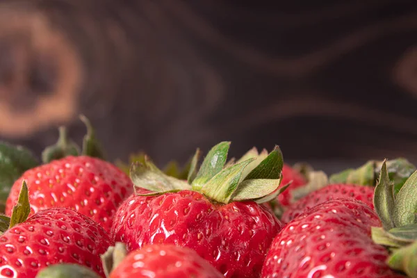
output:
[[[42,162],[49,163],[65,156],[79,156],[79,146],[67,136],[65,126],[58,129],[59,138],[55,145],[51,145],[42,152]]]

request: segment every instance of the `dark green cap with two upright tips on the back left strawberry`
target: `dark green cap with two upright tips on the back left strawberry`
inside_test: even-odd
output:
[[[42,152],[43,163],[49,163],[65,156],[79,156],[80,154],[104,159],[104,152],[101,150],[100,142],[96,138],[95,129],[92,127],[90,120],[84,115],[80,115],[80,120],[87,128],[87,133],[83,138],[83,149],[80,151],[79,145],[68,138],[65,126],[60,126],[58,141]]]

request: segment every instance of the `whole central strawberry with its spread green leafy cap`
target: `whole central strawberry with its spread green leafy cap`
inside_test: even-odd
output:
[[[129,252],[148,244],[190,247],[225,277],[259,277],[281,223],[258,203],[280,192],[282,156],[276,147],[263,161],[246,154],[224,166],[228,150],[229,142],[213,147],[198,172],[197,150],[190,184],[168,177],[149,160],[133,164],[133,183],[153,193],[136,193],[120,206],[114,239]]]

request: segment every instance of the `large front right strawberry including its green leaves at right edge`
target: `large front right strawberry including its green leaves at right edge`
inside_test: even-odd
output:
[[[394,270],[417,277],[417,172],[398,177],[384,161],[375,211],[349,197],[295,217],[274,239],[262,277],[404,277]]]

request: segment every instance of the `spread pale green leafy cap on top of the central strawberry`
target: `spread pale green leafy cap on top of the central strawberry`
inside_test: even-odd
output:
[[[206,155],[197,167],[200,152],[197,149],[190,161],[187,181],[175,179],[147,158],[144,163],[131,165],[131,179],[138,188],[161,194],[178,190],[194,190],[215,202],[227,204],[234,201],[254,200],[268,202],[285,188],[278,190],[281,181],[283,158],[279,147],[270,154],[261,154],[254,148],[235,162],[227,162],[230,142],[220,142]]]

